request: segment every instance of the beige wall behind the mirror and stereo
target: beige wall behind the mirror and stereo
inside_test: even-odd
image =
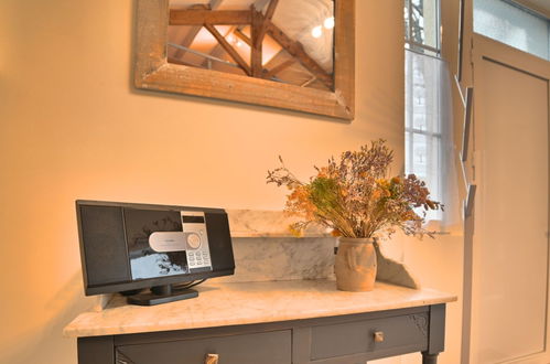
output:
[[[374,138],[402,154],[399,1],[357,1],[352,124],[136,90],[132,15],[130,0],[0,1],[1,363],[76,362],[61,336],[90,303],[75,199],[281,208],[278,154],[304,178]]]

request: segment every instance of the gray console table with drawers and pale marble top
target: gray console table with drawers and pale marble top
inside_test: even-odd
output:
[[[79,364],[364,364],[412,352],[434,364],[455,299],[385,283],[360,293],[333,281],[206,285],[157,307],[116,298],[65,335],[78,338]]]

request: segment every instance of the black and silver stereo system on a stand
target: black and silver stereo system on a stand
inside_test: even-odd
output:
[[[227,214],[222,208],[76,201],[86,296],[130,296],[136,304],[196,297],[179,285],[233,275]]]

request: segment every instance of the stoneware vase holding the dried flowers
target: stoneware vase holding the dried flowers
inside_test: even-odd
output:
[[[375,288],[376,250],[371,238],[338,238],[334,272],[343,291],[370,291]]]

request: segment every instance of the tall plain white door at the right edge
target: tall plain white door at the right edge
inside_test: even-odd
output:
[[[470,363],[550,363],[550,63],[474,35]]]

